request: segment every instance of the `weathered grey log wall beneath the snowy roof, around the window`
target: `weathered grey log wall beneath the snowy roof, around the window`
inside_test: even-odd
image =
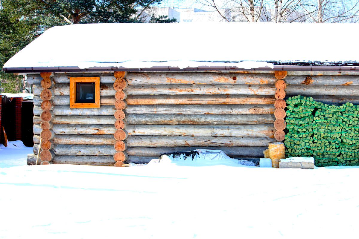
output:
[[[80,76],[100,77],[100,108],[70,109],[69,77]],[[279,110],[275,115],[283,106],[280,101],[275,106],[281,86],[276,85],[274,72],[128,72],[120,77],[123,80],[118,78],[113,73],[51,77],[49,94],[54,97],[47,106],[51,109],[47,127],[54,136],[46,146],[54,153],[51,162],[114,165],[112,157],[142,163],[162,153],[196,148],[220,149],[233,158],[258,161],[276,141],[280,129],[274,128],[276,118],[284,117],[278,116]],[[36,154],[43,121],[42,79],[28,76],[34,84]],[[300,94],[327,104],[359,104],[356,75],[288,72],[284,81],[284,100]]]

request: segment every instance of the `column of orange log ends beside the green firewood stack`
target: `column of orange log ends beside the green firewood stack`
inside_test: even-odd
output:
[[[286,88],[286,82],[284,81],[285,77],[287,76],[286,71],[275,71],[274,72],[275,78],[278,79],[278,81],[275,82],[276,91],[274,94],[274,97],[276,98],[276,101],[274,102],[274,116],[276,120],[274,121],[274,128],[277,130],[274,134],[274,138],[278,141],[283,141],[285,138],[284,129],[286,127],[285,123],[285,107],[286,103],[284,97],[285,97],[285,88]]]

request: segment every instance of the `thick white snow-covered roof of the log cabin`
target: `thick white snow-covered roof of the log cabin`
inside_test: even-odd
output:
[[[201,66],[262,67],[270,70],[276,64],[359,66],[356,29],[359,29],[359,23],[109,23],[57,26],[48,29],[9,59],[4,70],[151,67],[150,70],[158,70]]]

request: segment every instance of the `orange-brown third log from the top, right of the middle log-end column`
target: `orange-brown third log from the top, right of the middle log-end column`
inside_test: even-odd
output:
[[[56,96],[57,97],[57,96]],[[54,100],[56,100],[56,97]],[[273,96],[256,95],[130,95],[127,105],[274,104]]]

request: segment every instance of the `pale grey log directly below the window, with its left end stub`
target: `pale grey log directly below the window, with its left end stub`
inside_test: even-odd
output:
[[[34,115],[40,115],[43,110],[34,105]],[[68,105],[55,105],[51,111],[57,115],[112,115],[116,108],[113,105],[103,105],[100,108],[70,108]]]

